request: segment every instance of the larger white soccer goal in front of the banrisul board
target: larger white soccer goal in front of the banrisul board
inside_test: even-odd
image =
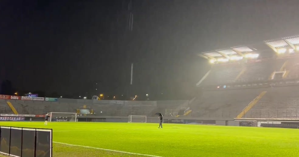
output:
[[[50,122],[77,122],[77,113],[50,112]]]

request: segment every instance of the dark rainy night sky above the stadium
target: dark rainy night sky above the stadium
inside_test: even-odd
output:
[[[196,52],[298,33],[299,1],[0,2],[1,79],[19,90],[190,95],[206,71]]]

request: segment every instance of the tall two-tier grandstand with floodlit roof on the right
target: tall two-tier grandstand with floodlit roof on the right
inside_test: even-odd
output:
[[[204,92],[192,117],[299,120],[298,52],[299,36],[291,36],[198,54],[212,67],[197,83]]]

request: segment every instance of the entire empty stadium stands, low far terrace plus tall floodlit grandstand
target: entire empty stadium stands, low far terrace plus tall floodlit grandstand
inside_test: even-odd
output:
[[[160,112],[165,113],[165,119],[173,123],[229,125],[226,121],[233,121],[231,125],[235,125],[238,121],[234,120],[243,120],[238,125],[299,127],[299,36],[198,55],[208,59],[212,65],[196,84],[201,92],[191,100],[58,99],[57,102],[10,102],[19,114],[80,113],[80,109],[86,108],[92,110],[95,116],[109,117],[153,116]],[[2,113],[13,113],[5,100],[0,100],[0,110]],[[265,123],[257,123],[256,119],[263,119]],[[297,121],[278,124],[268,123],[267,119]]]

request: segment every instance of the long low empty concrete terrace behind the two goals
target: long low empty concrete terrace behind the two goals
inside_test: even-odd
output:
[[[150,115],[156,112],[165,112],[167,107],[177,108],[186,100],[178,101],[118,101],[118,100],[80,100],[59,99],[58,102],[50,101],[25,101],[10,100],[19,114],[45,114],[48,112],[70,112],[75,113],[84,105],[92,109],[97,116],[128,116],[128,115]],[[157,103],[159,105],[157,105]],[[6,101],[0,101],[1,113],[12,113]]]

